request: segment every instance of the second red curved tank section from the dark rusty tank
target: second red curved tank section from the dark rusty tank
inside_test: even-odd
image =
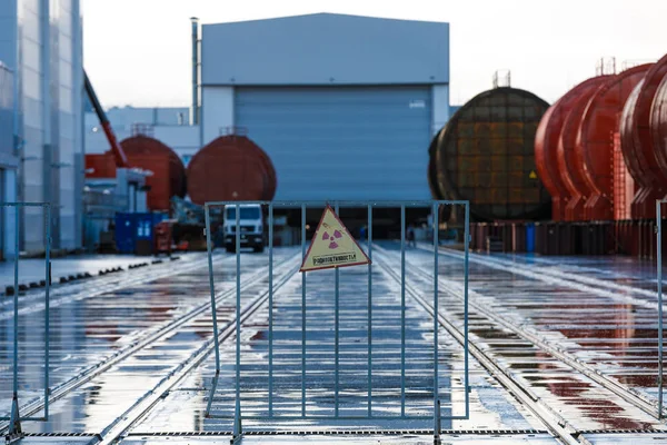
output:
[[[584,219],[584,205],[591,194],[590,187],[584,179],[584,166],[576,154],[577,129],[588,101],[607,80],[608,77],[595,77],[585,87],[581,87],[573,99],[570,110],[563,122],[556,158],[560,178],[571,197],[565,207],[565,220],[567,221]]]

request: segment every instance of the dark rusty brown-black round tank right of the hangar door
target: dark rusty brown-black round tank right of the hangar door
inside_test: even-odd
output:
[[[470,200],[479,219],[548,214],[549,194],[535,166],[535,135],[548,108],[534,93],[510,87],[481,92],[464,105],[429,149],[436,196]]]

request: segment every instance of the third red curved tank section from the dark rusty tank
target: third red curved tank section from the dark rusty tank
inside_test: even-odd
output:
[[[584,206],[588,220],[614,218],[614,134],[628,96],[650,67],[641,65],[607,79],[581,115],[575,152],[591,191]]]

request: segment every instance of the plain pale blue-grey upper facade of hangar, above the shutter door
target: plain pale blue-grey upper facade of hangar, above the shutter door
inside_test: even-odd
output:
[[[449,23],[315,13],[205,24],[201,82],[449,82]]]

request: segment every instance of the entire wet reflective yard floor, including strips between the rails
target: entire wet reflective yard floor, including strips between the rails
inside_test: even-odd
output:
[[[382,245],[396,254],[396,245]],[[276,264],[292,257],[298,249],[277,249]],[[397,255],[391,267],[399,269]],[[432,269],[432,253],[411,249],[407,253],[407,279],[425,296],[432,295],[432,279],[412,274],[410,267]],[[54,306],[51,314],[51,386],[61,384],[89,366],[108,359],[135,344],[160,326],[191,310],[209,298],[206,256],[200,255],[197,267],[176,268],[153,279],[131,281],[120,288],[91,296],[67,299]],[[231,256],[216,258],[216,279],[219,291],[235,285]],[[501,257],[499,257],[501,258]],[[639,267],[635,279],[628,261],[605,259],[580,264],[540,261],[539,258],[515,257],[514,265],[538,267],[563,274],[630,283],[650,289],[651,275]],[[296,265],[296,263],[295,263]],[[261,273],[267,255],[249,255],[242,259],[242,280]],[[152,267],[152,266],[151,266]],[[158,266],[156,266],[158,267]],[[172,267],[165,265],[162,267]],[[609,267],[609,270],[605,268]],[[152,269],[151,269],[152,270]],[[155,269],[158,270],[158,269]],[[366,415],[368,385],[367,355],[367,269],[342,269],[340,273],[340,415]],[[441,256],[440,278],[462,284],[460,258]],[[626,276],[627,275],[627,276]],[[128,275],[130,277],[130,275]],[[548,278],[548,277],[547,277]],[[101,281],[100,281],[101,283]],[[290,421],[289,429],[349,428],[350,423],[331,418],[334,411],[334,274],[321,271],[308,275],[307,293],[307,412],[326,415],[326,422]],[[589,284],[590,285],[590,284]],[[243,304],[259,296],[268,286],[265,278],[243,291]],[[296,275],[275,296],[275,392],[273,407],[278,414],[301,413],[301,276]],[[541,280],[509,270],[470,264],[471,298],[517,326],[538,333],[546,340],[583,363],[596,367],[618,382],[636,387],[647,395],[657,394],[657,312],[647,303],[650,297],[633,295],[636,303],[619,300],[608,290],[589,293],[564,281]],[[37,298],[24,297],[20,316],[20,396],[22,403],[39,397],[43,389],[43,312],[30,309]],[[374,268],[372,322],[372,414],[376,417],[400,414],[400,286],[380,268]],[[440,289],[440,313],[455,325],[462,326],[462,305],[458,298]],[[11,358],[11,305],[0,310],[0,363]],[[233,301],[218,307],[220,326],[235,314]],[[432,416],[432,319],[408,298],[407,307],[407,372],[406,413]],[[548,402],[563,417],[581,429],[661,427],[646,413],[603,390],[588,378],[538,349],[482,314],[470,312],[470,338],[512,377],[530,387],[530,392]],[[29,432],[97,433],[128,409],[139,396],[155,386],[170,370],[187,360],[210,339],[210,313],[197,317],[182,328],[112,366],[79,389],[51,406],[47,423],[28,422]],[[222,346],[222,376],[213,399],[217,416],[231,417],[235,402],[235,337]],[[268,402],[268,308],[243,324],[242,403],[247,416],[266,416]],[[439,333],[439,384],[442,413],[462,414],[464,372],[462,349],[446,332]],[[228,431],[229,418],[205,418],[208,389],[215,374],[213,357],[195,369],[135,428],[137,433]],[[444,427],[455,429],[544,429],[525,407],[518,406],[477,362],[470,360],[470,419],[444,421]],[[0,407],[7,411],[11,389],[11,366],[2,365],[0,373]],[[398,398],[397,398],[398,395]],[[355,421],[359,428],[431,428],[432,419]],[[286,423],[248,418],[249,429],[283,429]],[[444,437],[449,442],[466,442],[464,437]],[[593,436],[591,443],[596,442]],[[601,437],[601,436],[600,436]],[[228,437],[220,437],[228,441]],[[396,443],[411,443],[412,437]],[[422,438],[421,438],[422,439]],[[486,443],[487,437],[467,437]],[[162,443],[161,438],[132,435],[125,443]],[[179,443],[171,437],[169,443]],[[200,439],[197,439],[200,442]],[[283,441],[283,438],[248,438],[246,442]],[[364,439],[368,443],[367,438]],[[417,438],[415,438],[417,441]],[[475,442],[477,441],[477,442]],[[516,436],[512,443],[552,443],[548,436]],[[600,439],[601,441],[601,439]],[[618,443],[624,443],[625,437]],[[186,441],[187,442],[187,441]],[[288,441],[289,442],[289,441]],[[349,441],[348,441],[349,442]],[[496,438],[497,442],[497,438]],[[289,442],[293,443],[293,442]],[[388,442],[391,443],[391,442]],[[418,443],[418,442],[415,442]],[[626,442],[629,443],[629,442]]]

